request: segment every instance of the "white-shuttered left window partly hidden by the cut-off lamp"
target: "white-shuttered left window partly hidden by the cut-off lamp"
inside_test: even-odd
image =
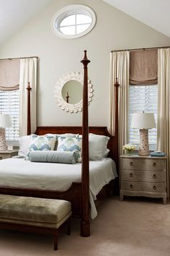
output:
[[[6,140],[19,139],[19,90],[0,90],[0,113],[10,114],[12,127],[6,128]]]

